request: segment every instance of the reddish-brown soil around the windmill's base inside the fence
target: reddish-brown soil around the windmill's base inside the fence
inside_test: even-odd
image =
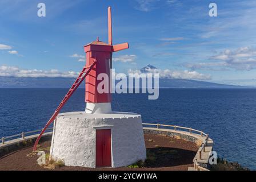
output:
[[[193,158],[198,150],[198,146],[193,142],[187,142],[181,139],[163,137],[160,135],[145,135],[145,143],[147,148],[147,160],[142,167],[139,168],[85,168],[85,167],[55,167],[54,170],[182,170],[187,171],[188,167],[193,167]],[[41,148],[49,153],[50,141],[40,143]],[[22,148],[21,150],[12,152],[0,158],[0,170],[50,170],[43,168],[37,164],[37,155],[27,156],[32,151],[32,146]],[[53,170],[53,169],[51,169]]]

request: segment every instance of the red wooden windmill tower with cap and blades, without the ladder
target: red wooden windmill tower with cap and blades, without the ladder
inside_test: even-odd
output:
[[[92,71],[86,77],[86,102],[92,103],[107,103],[111,102],[110,94],[110,69],[112,67],[112,52],[121,51],[129,48],[128,43],[118,44],[112,46],[112,21],[111,21],[111,7],[108,8],[108,26],[109,26],[109,43],[96,41],[87,44],[86,52],[86,67],[96,61]],[[108,93],[98,93],[97,86],[101,80],[97,80],[100,73],[106,73],[109,78]],[[95,79],[96,78],[96,79]]]

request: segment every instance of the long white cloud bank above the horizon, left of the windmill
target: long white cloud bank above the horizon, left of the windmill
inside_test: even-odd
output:
[[[61,72],[57,69],[43,71],[38,69],[21,69],[19,67],[0,66],[0,76],[3,77],[77,77],[78,73],[74,71]]]

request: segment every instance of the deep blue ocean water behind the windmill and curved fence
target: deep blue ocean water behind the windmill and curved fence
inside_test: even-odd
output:
[[[68,89],[0,89],[0,137],[42,129]],[[62,112],[85,110],[78,89]],[[145,123],[202,130],[221,158],[256,169],[256,89],[160,89],[147,94],[113,94],[114,111],[142,115]]]

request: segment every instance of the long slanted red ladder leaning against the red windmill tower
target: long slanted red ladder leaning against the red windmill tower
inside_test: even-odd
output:
[[[47,127],[54,121],[54,119],[59,114],[59,111],[66,104],[67,100],[69,100],[69,98],[72,96],[72,94],[75,92],[75,90],[77,90],[77,88],[81,84],[81,82],[83,82],[83,80],[85,80],[85,77],[89,74],[91,69],[93,69],[95,64],[96,64],[96,61],[94,61],[93,64],[91,64],[89,67],[83,67],[83,70],[77,77],[77,80],[75,80],[74,84],[69,89],[69,92],[67,92],[66,96],[63,98],[63,100],[61,101],[61,103],[59,104],[59,106],[57,107],[57,109],[55,110],[55,112],[53,113],[51,118],[49,119],[49,121],[46,123],[45,127],[42,129],[40,135],[38,136],[37,140],[35,140],[33,151],[37,150],[37,144],[38,144],[40,138],[42,137],[42,135],[45,133],[45,130],[47,129]],[[86,71],[86,69],[88,69],[88,70]]]

